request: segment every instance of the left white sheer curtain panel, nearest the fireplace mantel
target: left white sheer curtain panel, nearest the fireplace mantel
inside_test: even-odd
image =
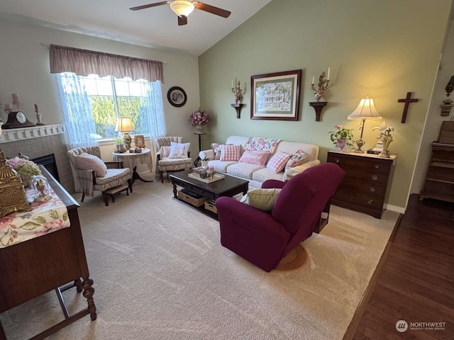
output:
[[[84,82],[74,73],[57,74],[57,81],[70,142],[68,149],[97,145],[92,104]]]

